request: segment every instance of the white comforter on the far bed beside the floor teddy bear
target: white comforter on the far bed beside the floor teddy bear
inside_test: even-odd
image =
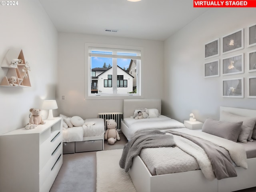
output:
[[[174,120],[164,115],[159,115],[159,117],[146,119],[124,118],[123,121],[129,129],[128,135],[126,134],[126,138],[128,140],[130,140],[130,138],[132,138],[134,133],[138,130],[185,128],[183,123],[178,122],[177,120]]]

